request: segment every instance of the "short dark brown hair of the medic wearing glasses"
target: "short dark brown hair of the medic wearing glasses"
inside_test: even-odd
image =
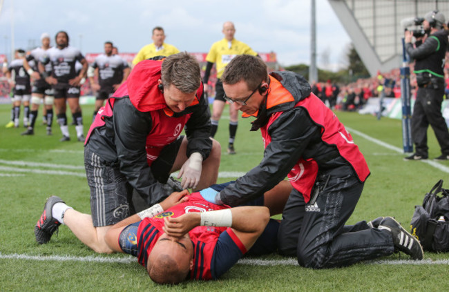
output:
[[[239,55],[234,57],[225,68],[221,81],[225,84],[236,84],[243,80],[248,89],[254,89],[260,81],[267,81],[267,65],[260,57]]]

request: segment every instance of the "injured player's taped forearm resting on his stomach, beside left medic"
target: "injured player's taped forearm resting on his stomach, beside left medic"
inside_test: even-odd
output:
[[[184,190],[182,192],[176,192],[169,195],[169,197],[166,197],[164,201],[160,202],[160,204],[155,204],[151,206],[150,208],[145,209],[144,211],[141,211],[137,214],[134,214],[130,217],[125,218],[124,220],[118,222],[117,224],[114,224],[109,228],[108,232],[106,233],[105,241],[106,244],[108,244],[109,248],[117,253],[122,253],[122,249],[119,245],[119,237],[120,233],[122,233],[123,229],[128,226],[129,224],[133,224],[135,222],[139,222],[140,220],[144,220],[146,217],[154,217],[155,215],[162,213],[168,208],[171,208],[172,206],[175,206],[177,204],[180,204],[182,202],[187,202],[189,200],[189,191]]]

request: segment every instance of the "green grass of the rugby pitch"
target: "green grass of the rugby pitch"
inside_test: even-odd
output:
[[[90,124],[93,106],[83,106],[84,123]],[[4,255],[73,256],[119,258],[127,255],[96,255],[81,244],[66,226],[49,244],[35,242],[33,228],[46,197],[59,195],[79,211],[90,213],[89,190],[85,177],[19,172],[20,170],[67,171],[84,173],[83,145],[60,143],[59,127],[47,137],[45,127],[37,126],[35,136],[23,137],[24,128],[6,129],[9,105],[0,105],[0,159],[79,166],[79,169],[54,166],[17,166],[0,162],[0,253]],[[224,116],[227,115],[225,109]],[[337,113],[343,124],[371,137],[401,148],[401,121],[356,113]],[[70,118],[69,118],[70,120]],[[38,119],[40,121],[40,117]],[[220,171],[246,172],[260,162],[263,147],[260,133],[249,132],[250,119],[241,119],[235,143],[237,155],[227,155],[228,120],[222,119],[216,139],[222,144]],[[85,128],[87,133],[88,126]],[[75,129],[70,126],[75,137]],[[439,146],[429,131],[430,157]],[[403,156],[353,134],[370,166],[363,195],[348,223],[393,215],[410,224],[414,205],[438,179],[449,175],[422,162],[404,162]],[[449,162],[441,162],[449,167]],[[20,176],[5,176],[20,175]],[[220,178],[226,182],[233,178]],[[426,253],[432,260],[448,260],[448,253]],[[278,255],[265,259],[281,260]],[[392,255],[384,260],[408,260]],[[412,263],[412,262],[410,262]],[[218,281],[185,282],[178,286],[157,286],[137,262],[128,264],[78,261],[38,261],[0,259],[0,291],[446,291],[448,265],[360,263],[344,269],[314,271],[299,266],[250,266],[237,264]]]

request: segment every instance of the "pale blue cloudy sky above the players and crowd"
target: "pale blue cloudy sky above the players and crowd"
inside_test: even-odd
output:
[[[318,67],[335,70],[345,65],[351,41],[327,0],[316,0],[316,12]],[[167,43],[207,52],[228,20],[236,39],[258,52],[276,52],[281,65],[309,64],[310,0],[4,0],[0,54],[12,50],[12,22],[16,48],[39,45],[42,32],[53,37],[66,30],[70,45],[83,53],[102,52],[106,40],[120,52],[137,52],[151,43],[151,29],[162,26]]]

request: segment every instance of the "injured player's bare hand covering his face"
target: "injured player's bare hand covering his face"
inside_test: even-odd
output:
[[[182,237],[196,226],[201,224],[201,215],[199,212],[185,213],[180,217],[165,217],[162,230],[169,236]]]

